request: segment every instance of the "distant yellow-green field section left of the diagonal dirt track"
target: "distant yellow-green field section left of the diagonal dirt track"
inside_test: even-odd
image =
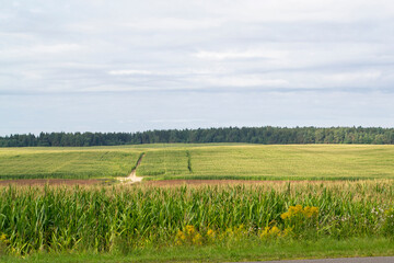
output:
[[[121,148],[13,148],[0,150],[0,179],[126,176],[139,150]]]

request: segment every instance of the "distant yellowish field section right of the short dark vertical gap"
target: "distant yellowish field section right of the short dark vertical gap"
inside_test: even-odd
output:
[[[390,178],[391,146],[239,146],[192,150],[196,175]]]

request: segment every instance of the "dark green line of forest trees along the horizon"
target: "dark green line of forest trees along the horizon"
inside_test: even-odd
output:
[[[287,144],[374,144],[393,145],[394,128],[381,127],[228,127],[148,130],[141,133],[40,133],[0,137],[0,147],[84,147],[140,144],[248,142]]]

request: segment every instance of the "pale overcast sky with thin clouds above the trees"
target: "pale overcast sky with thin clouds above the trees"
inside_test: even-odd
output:
[[[0,135],[394,127],[394,2],[0,0]]]

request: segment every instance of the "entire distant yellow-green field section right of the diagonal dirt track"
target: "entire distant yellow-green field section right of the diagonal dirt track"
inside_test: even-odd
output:
[[[357,180],[394,178],[394,146],[179,147],[147,151],[139,175],[162,179]],[[153,161],[159,160],[160,161]],[[190,171],[188,167],[192,167]]]

